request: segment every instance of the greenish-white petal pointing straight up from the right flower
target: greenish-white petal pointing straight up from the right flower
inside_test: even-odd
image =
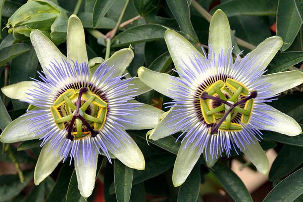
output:
[[[232,47],[229,22],[221,9],[218,9],[211,19],[209,44],[214,48],[216,64],[221,50],[223,49],[223,54],[226,55],[228,49]]]

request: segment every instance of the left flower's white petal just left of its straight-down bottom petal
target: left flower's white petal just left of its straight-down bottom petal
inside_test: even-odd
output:
[[[60,155],[57,156],[53,149],[50,149],[51,143],[46,142],[40,152],[34,173],[35,185],[40,184],[49,174],[51,174],[57,165],[63,160]]]

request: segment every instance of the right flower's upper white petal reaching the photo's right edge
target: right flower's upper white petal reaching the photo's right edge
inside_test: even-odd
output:
[[[279,72],[269,75],[263,75],[260,79],[263,80],[264,78],[266,78],[264,82],[271,84],[270,94],[268,94],[268,96],[272,96],[303,83],[303,72]]]

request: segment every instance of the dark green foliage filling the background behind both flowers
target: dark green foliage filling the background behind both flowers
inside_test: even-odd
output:
[[[33,1],[40,2],[38,5],[44,5],[44,0]],[[2,13],[0,88],[30,80],[30,77],[39,79],[36,72],[41,71],[41,66],[28,40],[29,27],[23,27],[26,29],[26,36],[14,32],[15,37],[8,34],[8,28],[3,29],[9,24],[8,19],[26,2],[25,0],[0,1],[0,15]],[[133,48],[134,59],[127,69],[130,76],[137,76],[140,66],[177,75],[173,72],[175,66],[164,40],[167,28],[183,35],[201,53],[201,45],[206,52],[208,51],[209,19],[205,17],[206,13],[201,13],[201,10],[194,6],[196,4],[201,5],[205,9],[204,12],[211,15],[217,9],[222,9],[228,16],[234,58],[242,50],[243,58],[252,47],[257,46],[264,39],[278,35],[282,37],[284,43],[280,52],[268,65],[265,74],[288,70],[302,71],[302,0],[52,0],[51,2],[56,8],[63,9],[59,9],[61,14],[58,16],[56,14],[56,21],[55,18],[51,21],[39,19],[40,23],[45,20],[45,24],[34,28],[43,31],[47,27],[47,30],[44,30],[46,35],[66,55],[67,16],[77,13],[85,30],[88,59],[105,58],[104,35],[107,34],[106,37],[111,39],[110,55],[125,47]],[[75,12],[75,8],[79,10]],[[123,11],[125,11],[124,15],[121,16]],[[122,26],[116,26],[117,22]],[[116,33],[112,35],[115,27]],[[248,45],[239,42],[239,39],[244,40]],[[303,128],[302,91],[302,86],[298,86],[283,92],[278,96],[279,99],[273,100],[270,105],[293,117]],[[12,120],[23,115],[29,106],[17,99],[5,97],[1,91],[0,95],[0,131],[2,131]],[[164,111],[168,109],[163,104],[171,102],[171,98],[155,90],[139,95],[136,99]],[[10,165],[10,169],[14,168],[12,172],[15,174],[0,172],[0,202],[93,202],[100,198],[105,198],[106,202],[208,202],[206,196],[220,195],[219,189],[224,190],[230,201],[252,201],[241,179],[230,169],[233,159],[239,160],[244,167],[256,169],[246,162],[243,153],[239,150],[238,153],[232,150],[229,158],[223,153],[219,162],[212,168],[207,168],[202,155],[185,183],[180,187],[174,187],[172,171],[182,141],[182,138],[177,140],[181,133],[155,141],[148,138],[146,140],[147,130],[127,132],[142,150],[145,170],[128,168],[117,159],[112,159],[111,164],[99,155],[97,182],[93,194],[88,198],[81,196],[78,190],[74,162],[69,165],[70,159],[63,164],[60,163],[53,174],[38,186],[34,186],[34,166],[42,140],[29,140],[20,144],[1,143],[0,171],[5,164]],[[263,201],[303,201],[303,168],[301,168],[303,135],[290,137],[270,131],[262,131],[262,133],[264,138],[260,143],[262,148],[275,149],[278,154],[269,173],[269,183],[272,183],[273,189]],[[215,198],[211,201],[223,201],[220,199]]]

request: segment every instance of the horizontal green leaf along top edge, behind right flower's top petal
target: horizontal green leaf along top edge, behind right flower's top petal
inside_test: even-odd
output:
[[[231,0],[224,2],[211,10],[211,15],[222,9],[227,17],[238,15],[276,15],[278,0]]]

